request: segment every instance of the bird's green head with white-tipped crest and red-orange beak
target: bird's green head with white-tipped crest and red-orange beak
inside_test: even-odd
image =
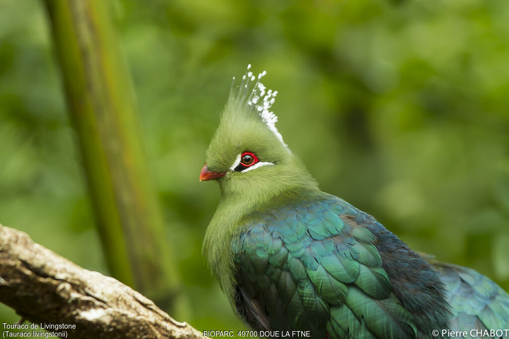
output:
[[[277,116],[270,107],[277,91],[260,82],[265,71],[256,76],[249,69],[240,85],[233,80],[200,181],[216,179],[227,195],[275,195],[316,187],[275,127]]]

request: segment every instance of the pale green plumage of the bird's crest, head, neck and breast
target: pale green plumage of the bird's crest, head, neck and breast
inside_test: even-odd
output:
[[[232,235],[255,211],[284,205],[302,194],[317,194],[316,181],[283,141],[275,127],[277,117],[270,111],[277,91],[266,90],[260,82],[265,71],[244,74],[240,85],[235,78],[221,121],[206,155],[209,171],[225,172],[217,178],[221,199],[207,229],[204,253],[222,289],[233,300]],[[258,162],[240,164],[250,152]]]

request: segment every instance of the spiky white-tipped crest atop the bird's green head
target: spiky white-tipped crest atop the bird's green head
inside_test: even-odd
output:
[[[237,79],[233,77],[228,101],[231,104],[235,104],[237,107],[241,107],[249,114],[260,115],[265,125],[275,134],[277,139],[279,139],[285,147],[288,147],[275,126],[277,116],[274,112],[269,110],[276,100],[277,90],[267,89],[267,87],[260,82],[262,77],[267,74],[266,71],[255,76],[253,72],[250,71],[250,68],[251,64],[247,65],[246,73],[242,76],[240,85],[236,84]]]

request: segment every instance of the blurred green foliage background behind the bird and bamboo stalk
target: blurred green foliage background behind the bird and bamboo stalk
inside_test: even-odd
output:
[[[219,191],[198,176],[248,63],[322,190],[509,291],[509,2],[110,5],[187,298],[177,320],[244,328],[201,254]],[[108,274],[91,206],[46,13],[0,0],[0,223]]]

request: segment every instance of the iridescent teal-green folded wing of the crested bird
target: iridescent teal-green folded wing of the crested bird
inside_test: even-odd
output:
[[[335,198],[249,216],[232,250],[237,309],[253,328],[310,330],[315,338],[416,336],[375,237],[344,222],[356,213]]]

